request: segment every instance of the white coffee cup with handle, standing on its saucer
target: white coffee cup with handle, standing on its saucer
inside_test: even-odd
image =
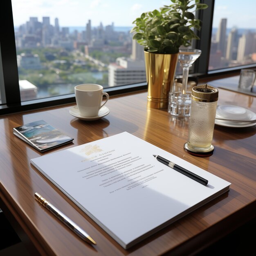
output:
[[[106,96],[103,101],[103,96]],[[103,86],[85,83],[75,86],[76,105],[82,117],[96,117],[101,107],[109,99],[107,92],[103,92]]]

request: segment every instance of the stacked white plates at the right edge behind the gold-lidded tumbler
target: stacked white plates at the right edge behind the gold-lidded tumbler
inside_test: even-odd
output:
[[[241,120],[254,120],[256,119],[256,114],[249,109],[242,108],[234,105],[220,105],[216,110],[216,117],[223,119],[241,119]],[[215,119],[215,124],[219,126],[227,126],[227,127],[249,127],[256,125],[255,123],[247,123],[247,122],[232,122],[225,120]]]

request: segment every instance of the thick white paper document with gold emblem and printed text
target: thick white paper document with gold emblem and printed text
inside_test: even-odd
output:
[[[153,155],[207,179],[207,186]],[[227,192],[231,184],[128,132],[43,155],[31,164],[125,249]]]

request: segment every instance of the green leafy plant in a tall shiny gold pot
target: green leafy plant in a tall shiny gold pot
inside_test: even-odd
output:
[[[206,9],[200,0],[171,0],[160,10],[144,12],[130,31],[133,39],[144,46],[148,100],[153,108],[167,108],[168,93],[173,87],[180,46],[200,39],[201,21],[191,11]]]

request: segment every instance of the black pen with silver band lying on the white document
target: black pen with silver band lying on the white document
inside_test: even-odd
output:
[[[187,177],[190,177],[191,179],[203,184],[206,186],[208,184],[208,180],[205,180],[204,178],[196,175],[195,173],[192,173],[191,171],[186,170],[185,168],[165,159],[164,157],[160,157],[159,155],[153,155],[159,162],[162,164],[168,165],[169,167],[173,168],[175,171],[178,171]]]

